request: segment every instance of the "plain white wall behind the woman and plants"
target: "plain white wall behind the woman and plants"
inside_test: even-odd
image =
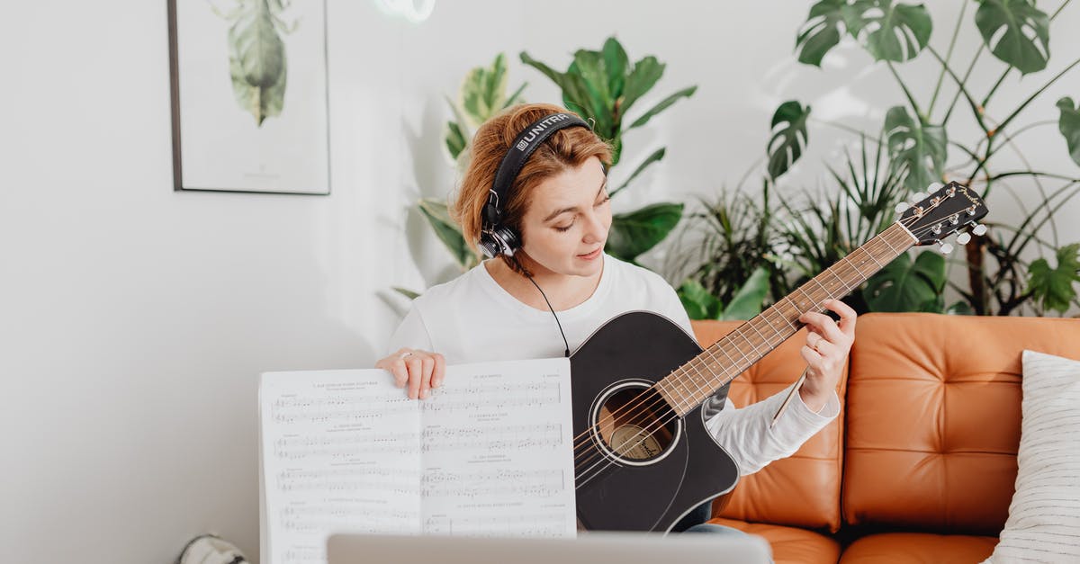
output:
[[[172,190],[165,2],[23,2],[0,18],[5,562],[168,562],[206,531],[257,554],[257,374],[372,365],[405,307],[387,288],[453,276],[408,206],[453,185],[443,95],[496,52],[508,53],[512,84],[529,81],[530,100],[557,98],[517,63],[522,49],[565,68],[572,50],[611,33],[632,58],[667,63],[642,108],[700,85],[627,136],[627,163],[660,145],[669,156],[617,211],[733,187],[785,99],[873,126],[901,102],[858,49],[824,71],[794,63],[808,3],[444,1],[421,25],[370,1],[328,4],[329,197]],[[932,6],[942,49],[959,5]],[[1077,26],[1080,10],[1059,16],[1055,69],[1080,56],[1064,32]],[[901,72],[924,99],[936,75],[923,63]],[[997,78],[984,64],[980,84]],[[1000,97],[1047,78],[1010,82]],[[1080,98],[1080,69],[1024,122],[1056,120],[1053,102],[1067,94]],[[1037,167],[1080,176],[1056,127],[1026,135]],[[786,184],[816,182],[843,139],[814,125]],[[1001,202],[995,213],[1008,212]],[[1075,221],[1058,227],[1080,240]]]

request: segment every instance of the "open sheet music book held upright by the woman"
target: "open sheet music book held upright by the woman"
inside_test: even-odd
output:
[[[409,400],[379,368],[264,373],[261,561],[332,533],[576,534],[568,359],[459,364]]]

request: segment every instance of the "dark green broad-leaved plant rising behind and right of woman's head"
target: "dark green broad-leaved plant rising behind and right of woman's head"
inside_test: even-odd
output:
[[[660,112],[681,98],[693,95],[698,86],[688,86],[669,94],[626,125],[631,109],[652,90],[664,73],[664,64],[647,55],[635,63],[616,38],[608,38],[599,51],[580,49],[573,53],[566,71],[558,71],[537,61],[526,52],[522,63],[539,70],[563,92],[563,105],[593,124],[593,131],[611,144],[611,166],[619,164],[623,135],[644,126]],[[609,194],[617,196],[646,167],[664,158],[664,148],[651,152]],[[612,256],[636,261],[637,257],[667,237],[681,217],[683,206],[675,203],[650,206],[612,217],[605,250]]]

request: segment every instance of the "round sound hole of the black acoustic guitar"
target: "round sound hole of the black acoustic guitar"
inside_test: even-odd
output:
[[[663,399],[646,387],[616,391],[599,408],[600,439],[630,460],[648,460],[672,444],[678,420]]]

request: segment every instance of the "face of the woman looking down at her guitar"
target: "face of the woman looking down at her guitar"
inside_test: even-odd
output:
[[[567,276],[594,276],[611,227],[607,177],[593,157],[546,178],[532,190],[522,218],[522,250],[535,263],[532,270]]]

